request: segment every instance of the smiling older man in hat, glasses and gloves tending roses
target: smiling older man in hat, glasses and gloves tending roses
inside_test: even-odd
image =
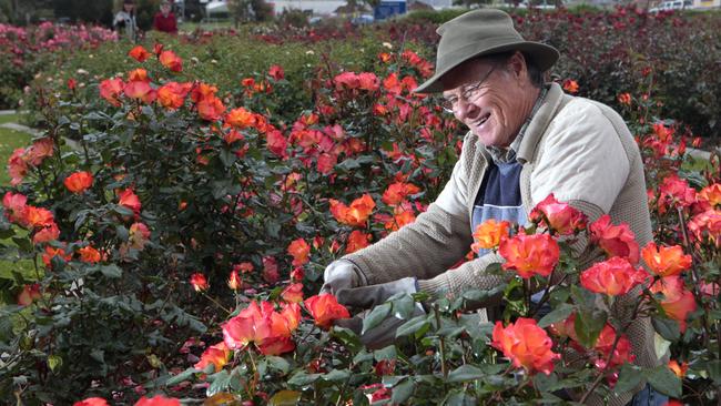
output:
[[[486,273],[502,262],[496,254],[447,270],[468,252],[476,225],[488,219],[525,225],[530,210],[551,192],[591,221],[608,213],[615,223],[628,223],[641,245],[651,240],[633,138],[607,105],[544,82],[544,72],[559,58],[555,48],[525,41],[508,14],[490,9],[467,12],[437,32],[436,73],[416,92],[443,92],[444,108],[468,126],[460,159],[426,213],[328,265],[323,291],[369,308],[398,292],[438,297],[497,286],[502,280]],[[650,322],[639,319],[628,333],[637,363],[657,365]],[[632,396],[610,404],[624,405]],[[648,403],[653,397],[661,398],[647,386],[632,404],[663,400]]]

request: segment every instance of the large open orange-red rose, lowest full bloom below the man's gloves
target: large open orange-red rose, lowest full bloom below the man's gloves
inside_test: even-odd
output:
[[[561,357],[551,351],[552,341],[532,318],[520,317],[505,328],[496,322],[490,345],[510,358],[514,366],[522,367],[529,374],[542,372],[550,375],[554,361]]]

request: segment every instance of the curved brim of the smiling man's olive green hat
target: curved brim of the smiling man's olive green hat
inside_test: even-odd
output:
[[[556,48],[547,45],[545,43],[534,42],[534,41],[518,41],[518,42],[505,43],[498,47],[486,48],[479,50],[478,52],[469,52],[467,57],[460,58],[458,59],[457,62],[447,65],[445,69],[438,72],[435,72],[434,75],[430,77],[427,81],[423,82],[418,88],[414,89],[414,92],[415,93],[443,92],[446,89],[444,89],[444,85],[440,82],[440,78],[443,78],[446,73],[451,71],[454,68],[474,58],[491,55],[491,54],[502,53],[507,51],[524,52],[524,54],[529,59],[531,59],[532,62],[536,64],[536,67],[538,67],[538,69],[540,69],[541,72],[546,72],[547,70],[549,70],[556,63],[556,61],[558,61],[558,58],[560,57],[560,53]]]

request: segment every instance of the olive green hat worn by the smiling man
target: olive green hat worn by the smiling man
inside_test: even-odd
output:
[[[451,69],[476,57],[507,51],[521,51],[541,70],[547,71],[558,60],[554,47],[526,41],[514,29],[507,13],[495,9],[469,11],[444,23],[436,30],[440,35],[436,57],[436,73],[414,90],[416,93],[437,93],[445,89],[439,79]]]

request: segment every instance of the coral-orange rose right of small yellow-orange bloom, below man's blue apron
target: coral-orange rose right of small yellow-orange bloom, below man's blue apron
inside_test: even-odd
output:
[[[502,238],[498,253],[506,260],[504,270],[512,270],[522,278],[535,274],[549,276],[558,264],[560,248],[548,234],[518,234]]]

